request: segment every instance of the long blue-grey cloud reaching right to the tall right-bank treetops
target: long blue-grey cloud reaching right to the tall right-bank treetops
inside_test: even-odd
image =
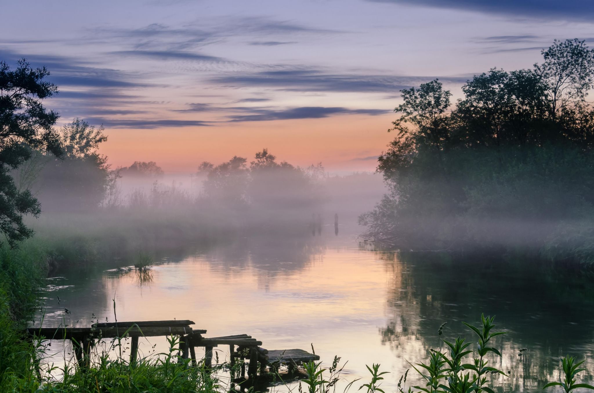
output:
[[[250,74],[210,78],[224,87],[264,87],[285,91],[355,91],[364,93],[395,92],[435,77],[393,75],[326,74],[315,69],[261,71]],[[446,83],[463,84],[467,77],[440,77]]]

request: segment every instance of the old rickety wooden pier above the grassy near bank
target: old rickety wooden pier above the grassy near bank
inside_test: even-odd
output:
[[[81,367],[89,367],[90,351],[94,344],[104,338],[131,338],[130,363],[135,363],[138,356],[139,337],[179,336],[180,361],[190,359],[191,366],[197,366],[195,348],[204,347],[204,366],[212,367],[213,348],[229,346],[229,363],[232,379],[245,379],[253,382],[258,376],[266,372],[278,372],[281,365],[286,365],[292,372],[299,365],[311,360],[320,360],[320,356],[301,349],[267,350],[262,348],[262,341],[252,338],[248,334],[235,334],[222,337],[203,337],[204,329],[195,329],[194,321],[130,321],[96,323],[88,328],[27,328],[31,340],[70,340],[72,348]],[[246,363],[247,361],[247,363]],[[239,363],[239,366],[236,364]],[[241,376],[235,375],[239,369]]]

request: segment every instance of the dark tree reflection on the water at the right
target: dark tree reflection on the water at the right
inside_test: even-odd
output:
[[[386,261],[388,321],[379,334],[397,358],[425,360],[428,349],[440,345],[437,330],[445,321],[444,338],[472,337],[460,322],[476,322],[485,312],[512,333],[495,341],[503,357],[492,362],[510,375],[495,385],[536,391],[558,378],[558,358],[566,353],[586,356],[586,367],[594,369],[594,321],[584,318],[594,298],[583,293],[588,278],[572,282],[529,262],[454,261],[438,253],[380,257]],[[529,351],[519,356],[523,347]]]

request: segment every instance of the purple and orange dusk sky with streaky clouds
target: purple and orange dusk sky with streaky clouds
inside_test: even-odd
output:
[[[554,39],[594,46],[594,2],[0,0],[0,60],[46,66],[46,106],[105,126],[112,166],[262,148],[299,166],[374,170],[399,90],[529,68]]]

